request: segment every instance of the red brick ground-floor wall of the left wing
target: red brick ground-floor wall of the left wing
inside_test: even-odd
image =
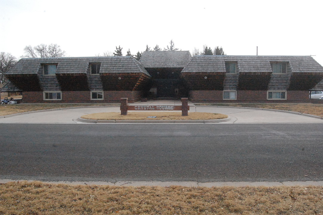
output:
[[[141,91],[104,91],[103,100],[91,100],[90,91],[62,91],[62,100],[43,99],[43,92],[23,92],[24,103],[109,103],[120,102],[120,98],[128,98],[128,102],[141,99]]]

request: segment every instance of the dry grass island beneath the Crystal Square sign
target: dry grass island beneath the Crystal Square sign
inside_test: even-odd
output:
[[[156,118],[147,118],[156,116]],[[226,119],[227,115],[220,113],[188,113],[188,116],[182,116],[182,112],[128,112],[127,115],[121,113],[91,113],[81,116],[83,119],[94,120],[209,120]]]

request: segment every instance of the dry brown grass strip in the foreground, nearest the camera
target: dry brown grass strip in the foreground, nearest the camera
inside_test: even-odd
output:
[[[322,187],[0,184],[0,214],[322,214]]]

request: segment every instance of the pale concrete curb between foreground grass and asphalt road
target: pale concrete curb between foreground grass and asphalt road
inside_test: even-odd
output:
[[[34,182],[39,180],[0,179],[0,183]],[[68,185],[109,185],[109,186],[184,186],[184,187],[277,187],[277,186],[323,186],[323,181],[226,181],[226,182],[198,182],[198,181],[41,181],[48,184]]]

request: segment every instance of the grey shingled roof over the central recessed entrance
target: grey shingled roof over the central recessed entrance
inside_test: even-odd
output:
[[[144,51],[139,62],[145,68],[182,68],[191,57],[189,51]]]

